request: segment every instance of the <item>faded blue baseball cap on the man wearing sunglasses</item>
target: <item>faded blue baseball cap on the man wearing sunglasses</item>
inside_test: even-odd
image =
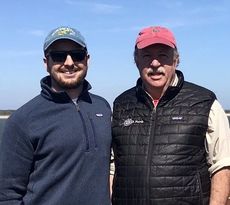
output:
[[[45,42],[43,45],[44,52],[47,50],[47,48],[51,44],[53,44],[55,41],[60,40],[60,39],[69,39],[84,48],[87,47],[85,38],[81,35],[81,33],[78,30],[68,27],[68,26],[61,26],[61,27],[53,29],[48,34],[48,36],[45,38]]]

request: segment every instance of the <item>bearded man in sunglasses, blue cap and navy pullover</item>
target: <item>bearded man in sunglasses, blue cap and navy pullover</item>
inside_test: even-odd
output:
[[[70,27],[44,43],[41,93],[8,119],[0,144],[1,205],[109,205],[111,109],[89,92],[89,54]]]

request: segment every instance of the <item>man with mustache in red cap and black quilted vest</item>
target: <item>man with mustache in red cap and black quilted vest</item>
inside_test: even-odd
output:
[[[215,94],[176,69],[167,28],[144,28],[134,60],[140,78],[113,106],[113,205],[225,205],[230,130]]]

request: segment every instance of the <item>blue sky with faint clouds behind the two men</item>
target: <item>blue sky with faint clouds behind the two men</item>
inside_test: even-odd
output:
[[[112,106],[139,77],[133,60],[138,32],[168,27],[185,80],[215,92],[230,109],[229,0],[7,0],[0,6],[0,109],[17,109],[40,93],[47,75],[43,42],[58,26],[78,29],[90,54],[92,93]]]

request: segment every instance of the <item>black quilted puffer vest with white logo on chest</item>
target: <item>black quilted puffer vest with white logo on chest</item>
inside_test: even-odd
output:
[[[113,205],[209,203],[204,141],[216,97],[177,75],[156,109],[140,79],[114,102]]]

